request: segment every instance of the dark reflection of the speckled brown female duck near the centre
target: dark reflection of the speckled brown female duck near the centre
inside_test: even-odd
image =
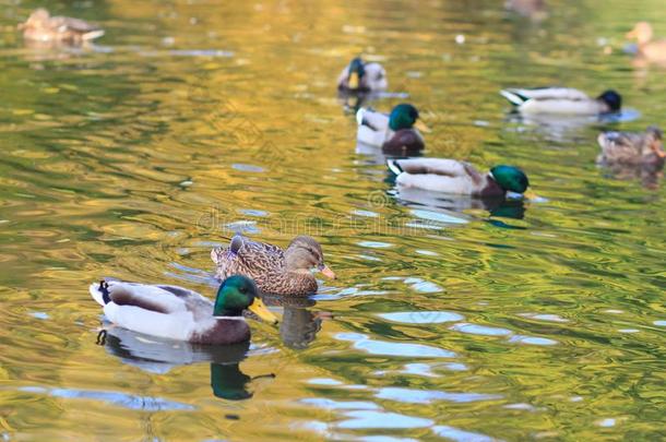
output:
[[[282,306],[284,309],[280,324],[282,342],[289,348],[308,348],[321,330],[323,320],[331,319],[329,312],[312,312],[308,308],[317,302],[308,298],[264,297],[266,306]]]

